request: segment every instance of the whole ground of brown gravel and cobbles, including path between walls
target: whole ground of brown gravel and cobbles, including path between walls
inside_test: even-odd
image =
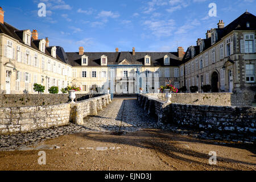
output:
[[[249,139],[163,125],[117,98],[84,125],[1,135],[0,170],[255,170]],[[38,163],[39,151],[46,164]],[[215,151],[217,164],[209,164]]]

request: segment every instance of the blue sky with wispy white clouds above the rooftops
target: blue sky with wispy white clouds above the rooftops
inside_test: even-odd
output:
[[[46,4],[46,17],[38,4]],[[210,17],[210,3],[217,16]],[[20,29],[38,30],[50,46],[66,52],[156,51],[172,52],[177,46],[195,45],[218,20],[225,25],[247,9],[256,15],[256,0],[34,0],[2,1],[5,22]]]

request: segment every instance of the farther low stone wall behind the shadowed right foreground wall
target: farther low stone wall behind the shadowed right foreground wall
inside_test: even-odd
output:
[[[165,93],[148,93],[147,96],[166,101]],[[254,94],[244,93],[173,93],[171,102],[177,104],[210,106],[252,106]]]

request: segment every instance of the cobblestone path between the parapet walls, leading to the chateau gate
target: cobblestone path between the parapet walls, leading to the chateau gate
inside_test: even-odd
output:
[[[84,126],[91,131],[125,134],[160,127],[156,122],[155,118],[148,117],[137,100],[113,100],[108,109],[96,116],[86,117]]]

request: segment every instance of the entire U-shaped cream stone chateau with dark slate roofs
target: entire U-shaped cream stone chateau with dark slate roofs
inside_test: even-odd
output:
[[[246,12],[228,26],[207,31],[184,52],[65,52],[39,39],[37,30],[18,30],[4,22],[0,7],[0,93],[36,93],[34,83],[59,90],[67,85],[112,93],[158,92],[166,80],[180,88],[212,85],[213,92],[241,92],[255,86],[254,15]],[[188,91],[189,92],[189,91]]]

